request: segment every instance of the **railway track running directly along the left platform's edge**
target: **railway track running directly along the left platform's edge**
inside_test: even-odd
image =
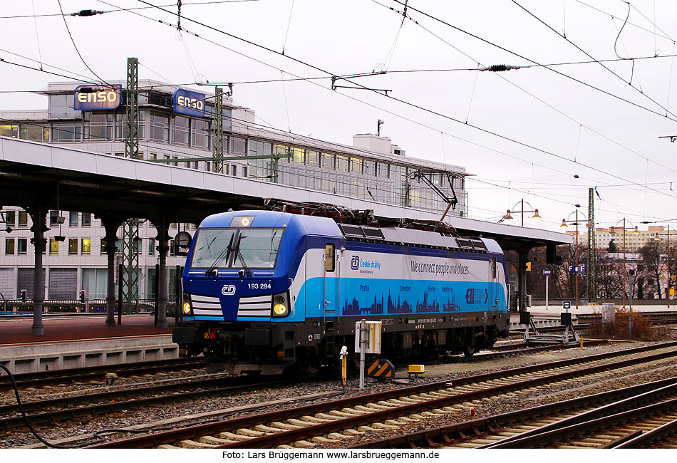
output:
[[[116,365],[41,371],[38,373],[20,373],[14,375],[14,380],[19,388],[43,387],[46,385],[82,383],[86,381],[103,380],[105,382],[106,373],[115,373],[120,377],[130,377],[169,371],[192,370],[195,368],[205,368],[205,366],[205,360],[202,358],[175,358],[154,362],[120,363]],[[0,370],[0,373],[4,372]],[[9,376],[0,374],[0,391],[11,390],[12,388],[13,385]]]

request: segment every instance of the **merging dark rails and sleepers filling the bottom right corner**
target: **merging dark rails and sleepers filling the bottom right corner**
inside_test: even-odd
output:
[[[677,377],[352,448],[643,448],[677,432]]]

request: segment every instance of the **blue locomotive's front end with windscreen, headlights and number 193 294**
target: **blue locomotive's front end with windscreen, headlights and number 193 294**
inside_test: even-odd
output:
[[[182,355],[210,371],[279,374],[295,361],[293,224],[266,212],[207,217],[183,275],[184,321],[173,331]]]

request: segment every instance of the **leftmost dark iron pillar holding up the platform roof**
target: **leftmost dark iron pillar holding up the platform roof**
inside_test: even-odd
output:
[[[42,254],[46,251],[47,239],[45,238],[45,231],[48,230],[47,206],[42,202],[36,202],[25,208],[26,212],[31,215],[31,231],[33,231],[33,238],[31,243],[35,249],[35,271],[33,273],[33,326],[31,326],[31,334],[43,335],[45,334],[45,327],[42,323],[43,303],[45,301],[45,275],[42,268]]]

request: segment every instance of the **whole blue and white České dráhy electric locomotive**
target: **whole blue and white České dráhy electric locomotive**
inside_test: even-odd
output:
[[[207,217],[183,274],[181,355],[210,370],[314,375],[381,321],[382,355],[472,355],[507,335],[505,258],[491,239],[273,211]]]

